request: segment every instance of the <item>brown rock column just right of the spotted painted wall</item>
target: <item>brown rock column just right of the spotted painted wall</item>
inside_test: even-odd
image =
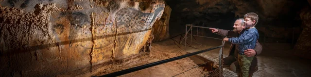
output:
[[[164,8],[164,13],[160,20],[155,21],[153,28],[153,41],[161,41],[163,39],[168,39],[170,37],[169,34],[169,22],[171,17],[172,9],[169,5],[166,5]]]

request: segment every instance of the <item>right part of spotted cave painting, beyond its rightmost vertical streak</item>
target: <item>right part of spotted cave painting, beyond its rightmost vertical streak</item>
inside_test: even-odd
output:
[[[133,8],[124,8],[116,13],[116,22],[119,33],[132,32],[129,35],[120,35],[116,37],[117,52],[122,51],[138,51],[142,46],[138,46],[141,43],[145,43],[149,37],[147,31],[151,30],[155,19],[159,18],[164,10],[164,4],[155,5],[153,13],[142,13]],[[139,31],[139,33],[137,33]],[[141,31],[141,32],[140,32]],[[136,33],[134,33],[136,32]],[[148,35],[142,36],[148,33]],[[144,40],[144,41],[143,41]],[[116,53],[116,56],[123,55],[123,53]]]

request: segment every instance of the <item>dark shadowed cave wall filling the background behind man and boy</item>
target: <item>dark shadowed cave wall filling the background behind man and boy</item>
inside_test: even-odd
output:
[[[311,0],[166,0],[173,9],[170,34],[185,32],[186,24],[232,30],[244,14],[259,15],[259,42],[293,43],[294,54],[310,59]],[[293,28],[294,27],[294,28]],[[204,30],[204,29],[202,29]],[[206,33],[210,30],[206,30]],[[264,39],[266,38],[266,39]],[[294,40],[293,40],[294,38]],[[285,48],[292,49],[292,48]]]

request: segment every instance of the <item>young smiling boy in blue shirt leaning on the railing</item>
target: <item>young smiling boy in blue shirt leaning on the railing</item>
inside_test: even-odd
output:
[[[258,23],[258,15],[256,13],[247,13],[244,15],[245,30],[241,32],[241,36],[238,38],[224,38],[225,41],[229,41],[237,44],[236,48],[239,50],[238,61],[241,69],[241,77],[248,77],[249,67],[253,61],[254,56],[247,57],[244,55],[244,50],[254,49],[259,34],[255,25]]]

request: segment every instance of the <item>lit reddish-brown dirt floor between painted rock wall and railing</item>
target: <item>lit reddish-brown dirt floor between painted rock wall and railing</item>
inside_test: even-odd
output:
[[[184,45],[180,45],[183,46]],[[167,39],[164,41],[160,41],[157,43],[152,44],[152,49],[148,53],[141,52],[139,56],[136,58],[132,58],[129,60],[123,61],[121,64],[114,64],[116,66],[113,66],[113,69],[107,69],[102,71],[109,71],[109,72],[99,72],[97,74],[94,74],[94,76],[101,76],[104,74],[109,74],[112,72],[124,70],[127,68],[153,63],[160,60],[165,60],[169,58],[173,58],[176,56],[187,54],[186,51],[184,51],[181,48],[178,47],[178,43],[174,42],[172,39]],[[120,77],[172,77],[179,73],[182,73],[188,69],[191,69],[192,67],[196,66],[190,58],[183,58],[180,60],[176,60],[173,62],[165,63],[156,65],[153,67],[149,67],[146,69],[142,69],[136,72],[132,72],[129,74],[122,75]],[[107,66],[105,66],[107,67]],[[204,72],[203,69],[200,67],[191,69],[188,72],[185,72],[183,74],[177,75],[176,77],[203,77],[204,74],[207,72]]]

